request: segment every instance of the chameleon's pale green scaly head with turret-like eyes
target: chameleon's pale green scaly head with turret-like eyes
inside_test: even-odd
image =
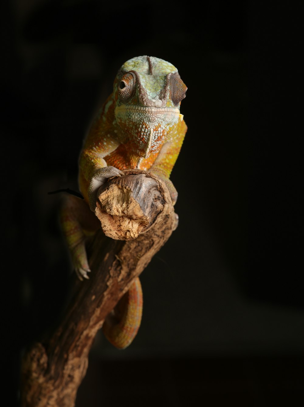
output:
[[[115,119],[128,134],[134,153],[157,153],[178,120],[187,87],[177,69],[163,59],[136,57],[121,66],[114,82]]]

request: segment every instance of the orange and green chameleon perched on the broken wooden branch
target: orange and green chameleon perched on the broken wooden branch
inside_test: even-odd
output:
[[[79,156],[78,183],[84,200],[68,195],[60,214],[80,280],[89,278],[85,240],[100,228],[95,216],[97,191],[109,177],[121,176],[128,168],[149,170],[166,184],[172,204],[176,203],[178,194],[170,174],[187,131],[180,113],[186,91],[178,70],[160,58],[134,57],[119,69],[113,92],[93,120]],[[142,306],[136,278],[120,310],[120,321],[104,322],[110,343],[119,349],[130,345],[141,323]]]

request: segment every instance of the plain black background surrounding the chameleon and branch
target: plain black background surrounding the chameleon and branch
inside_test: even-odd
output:
[[[253,1],[2,2],[8,405],[20,352],[56,320],[70,278],[60,196],[47,193],[77,189],[84,134],[138,55],[170,61],[188,87],[171,176],[180,223],[141,275],[137,337],[118,351],[97,335],[76,406],[302,397],[300,16]]]

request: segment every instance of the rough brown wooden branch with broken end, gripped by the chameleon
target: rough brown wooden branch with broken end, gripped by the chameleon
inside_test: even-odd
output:
[[[59,325],[24,355],[23,407],[75,405],[97,331],[177,227],[165,184],[145,171],[124,173],[99,190],[95,213],[104,233],[98,231],[88,243],[90,279],[73,278],[73,295]]]

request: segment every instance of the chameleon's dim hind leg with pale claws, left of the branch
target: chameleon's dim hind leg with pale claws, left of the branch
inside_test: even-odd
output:
[[[100,222],[84,200],[68,195],[60,211],[60,223],[77,276],[80,280],[88,278],[85,240],[86,236],[95,234]]]

